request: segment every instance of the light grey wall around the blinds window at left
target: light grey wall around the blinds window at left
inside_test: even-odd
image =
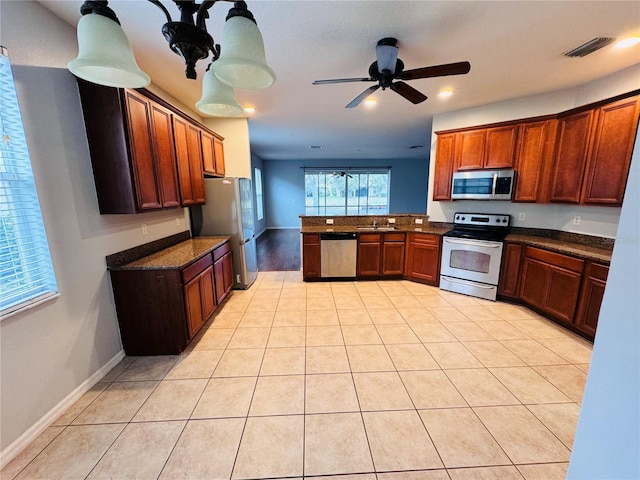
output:
[[[0,2],[0,19],[60,289],[57,300],[0,323],[5,461],[123,355],[104,257],[189,222],[185,209],[99,215],[76,82],[66,69],[77,53],[75,29],[35,2]]]

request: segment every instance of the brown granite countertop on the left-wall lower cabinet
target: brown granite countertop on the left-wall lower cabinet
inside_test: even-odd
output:
[[[215,250],[231,237],[195,237],[111,270],[181,269]]]

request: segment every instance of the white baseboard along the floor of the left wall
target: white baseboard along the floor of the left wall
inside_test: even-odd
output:
[[[20,435],[11,445],[0,452],[0,469],[4,468],[22,450],[24,450],[38,435],[44,432],[62,413],[73,405],[91,387],[98,383],[109,371],[125,357],[124,350],[120,350],[102,368],[82,382],[67,395],[60,403],[49,410],[40,420],[34,423],[26,432]]]

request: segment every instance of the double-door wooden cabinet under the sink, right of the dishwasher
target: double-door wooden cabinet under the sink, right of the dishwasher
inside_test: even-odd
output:
[[[404,233],[358,235],[357,276],[401,277],[404,273]]]

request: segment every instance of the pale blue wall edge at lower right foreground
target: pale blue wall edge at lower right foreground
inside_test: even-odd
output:
[[[640,134],[568,479],[640,478]]]

